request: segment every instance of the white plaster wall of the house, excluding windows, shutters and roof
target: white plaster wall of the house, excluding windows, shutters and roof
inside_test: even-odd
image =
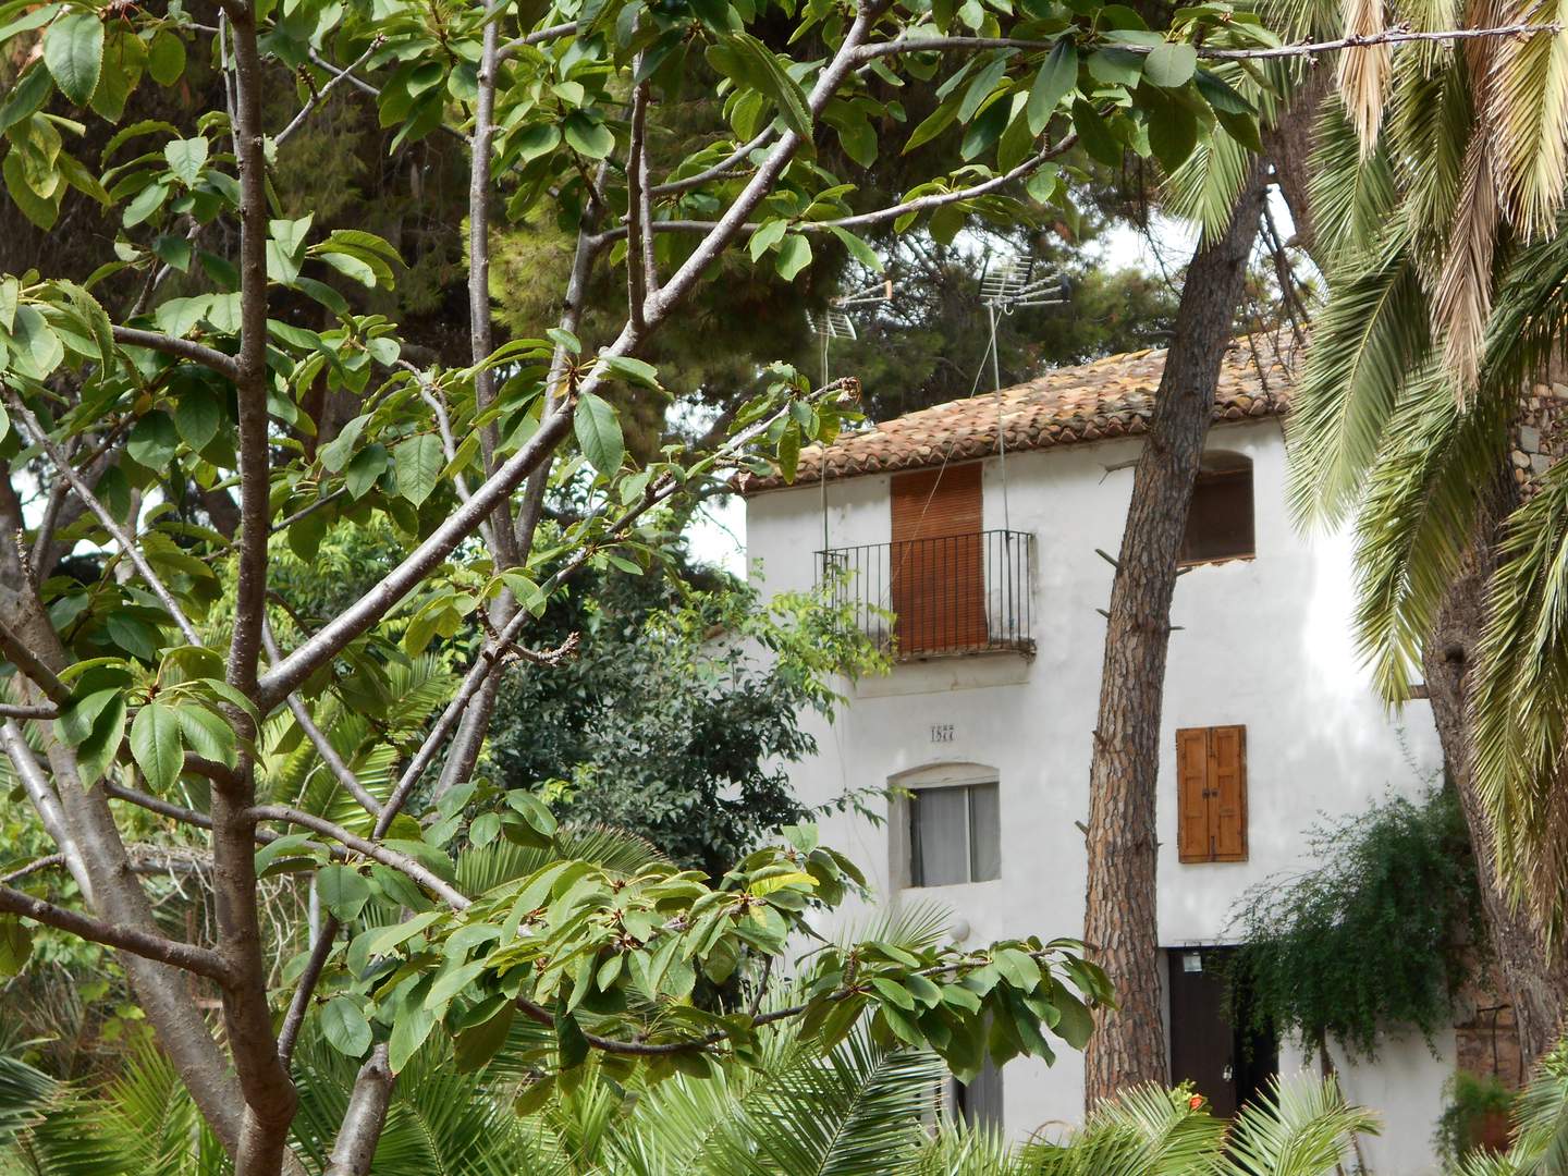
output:
[[[1441,768],[1425,702],[1391,723],[1359,670],[1350,635],[1350,563],[1342,536],[1303,536],[1284,508],[1284,445],[1276,422],[1217,428],[1210,448],[1253,461],[1256,547],[1250,561],[1198,568],[1178,580],[1160,724],[1160,942],[1225,942],[1236,900],[1301,861],[1305,833],[1325,814],[1361,811],[1394,792],[1417,792]],[[894,902],[935,900],[967,922],[971,942],[999,936],[1080,935],[1085,851],[1076,822],[1088,818],[1090,739],[1104,652],[1112,568],[1094,550],[1120,547],[1138,442],[1073,445],[1007,458],[1007,517],[1036,536],[1036,655],[985,654],[897,666],[848,688],[829,726],[815,724],[820,754],[795,768],[808,801],[880,786],[942,762],[994,767],[1002,803],[1002,878],[969,886],[895,891],[889,831],[853,817],[826,823],[825,839],[850,853]],[[886,543],[889,478],[829,481],[759,494],[748,502],[748,557],[767,591],[808,590],[823,546]],[[985,527],[1004,525],[999,459],[986,461]],[[1176,859],[1174,731],[1247,726],[1248,850],[1236,864]],[[931,728],[952,724],[952,742]],[[1436,1062],[1421,1046],[1389,1054],[1399,1137],[1380,1176],[1425,1176],[1436,1088],[1452,1043]],[[1356,1074],[1359,1079],[1359,1071]],[[1369,1105],[1374,1082],[1350,1082]],[[1366,1090],[1363,1090],[1366,1087]],[[1007,1123],[1027,1135],[1073,1121],[1082,1104],[1082,1062],[1010,1063]],[[1408,1098],[1400,1091],[1413,1091]],[[1430,1094],[1430,1098],[1428,1098]],[[1385,1142],[1386,1146],[1386,1142]]]

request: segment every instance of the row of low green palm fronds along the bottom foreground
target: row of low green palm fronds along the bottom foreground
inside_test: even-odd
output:
[[[1278,1087],[1226,1124],[1190,1091],[1140,1087],[1058,1143],[1010,1145],[936,1116],[946,1071],[925,1051],[864,1033],[823,1057],[792,1030],[760,1066],[674,1074],[630,1088],[597,1062],[569,1088],[516,1112],[527,1079],[506,1054],[459,1071],[445,1046],[400,1079],[375,1159],[378,1176],[1327,1176],[1350,1138],[1375,1131],[1333,1080]],[[6,1080],[16,1073],[22,1080]],[[312,1170],[342,1115],[353,1066],[318,1043],[296,1060],[295,1140]],[[221,1176],[226,1159],[151,1051],[97,1090],[9,1060],[0,1066],[6,1176]],[[9,1152],[9,1159],[6,1159]],[[6,1167],[9,1163],[9,1167]]]

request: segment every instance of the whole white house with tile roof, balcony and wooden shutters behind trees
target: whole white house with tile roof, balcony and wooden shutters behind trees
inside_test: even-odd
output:
[[[826,564],[844,572],[840,591],[898,613],[898,663],[845,687],[797,789],[808,803],[911,789],[886,825],[836,817],[823,837],[886,902],[950,908],[966,942],[1082,935],[1098,610],[1113,574],[1096,552],[1120,547],[1162,364],[1160,351],[1115,356],[916,412],[840,437],[826,469],[808,452],[793,486],[748,489],[748,557],[767,593],[809,590]],[[1441,770],[1427,704],[1396,726],[1359,666],[1347,539],[1303,535],[1287,516],[1287,383],[1273,353],[1262,370],[1251,347],[1229,353],[1171,607],[1159,936],[1173,1079],[1198,1080],[1217,1109],[1273,1069],[1273,1043],[1248,1060],[1201,971],[1234,942],[1236,900],[1300,864],[1325,815],[1417,793]],[[875,610],[866,622],[889,627]],[[1383,1115],[1383,1137],[1364,1145],[1380,1176],[1438,1170],[1452,1038],[1438,1052],[1414,1038],[1344,1068],[1348,1096]],[[1278,1043],[1279,1071],[1301,1066]],[[1080,1115],[1082,1058],[1014,1060],[971,1098],[1010,1134],[1049,1131]]]

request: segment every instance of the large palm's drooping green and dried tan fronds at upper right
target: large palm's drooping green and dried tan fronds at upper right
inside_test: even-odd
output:
[[[1557,9],[1281,11],[1294,27],[1367,33],[1396,17],[1433,30]],[[1568,916],[1568,478],[1544,478],[1521,505],[1508,459],[1521,389],[1568,328],[1565,47],[1537,33],[1344,55],[1312,163],[1328,296],[1289,425],[1297,519],[1352,525],[1356,638],[1380,691],[1397,706],[1424,682],[1432,698],[1532,1058],[1568,1007],[1555,947]],[[1203,185],[1187,177],[1185,190],[1195,199]]]

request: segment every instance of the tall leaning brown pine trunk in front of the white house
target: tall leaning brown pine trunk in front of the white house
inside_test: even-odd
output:
[[[1132,478],[1110,593],[1099,721],[1090,767],[1088,911],[1083,938],[1116,986],[1085,1055],[1083,1099],[1165,1082],[1156,927],[1156,775],[1176,561],[1214,412],[1220,361],[1258,235],[1264,179],[1254,165],[1231,226],[1193,254],[1176,332]]]

